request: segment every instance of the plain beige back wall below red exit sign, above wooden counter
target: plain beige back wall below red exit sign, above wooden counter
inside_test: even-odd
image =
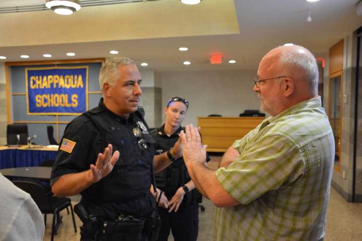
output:
[[[252,91],[256,69],[162,72],[161,75],[162,108],[173,96],[190,102],[184,126],[197,125],[198,116],[239,116],[244,109],[260,108],[257,94]]]

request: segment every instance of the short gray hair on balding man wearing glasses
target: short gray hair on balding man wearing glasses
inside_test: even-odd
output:
[[[312,95],[318,93],[318,65],[313,54],[306,48],[298,45],[281,46],[282,53],[279,58],[280,71],[288,77],[304,81]],[[287,51],[283,51],[287,49]]]

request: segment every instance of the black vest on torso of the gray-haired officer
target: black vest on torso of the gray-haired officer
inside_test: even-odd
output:
[[[102,135],[102,141],[93,146],[96,153],[103,153],[108,144],[112,144],[113,152],[119,151],[120,157],[113,170],[106,177],[95,183],[97,193],[90,198],[94,203],[128,202],[149,192],[151,185],[151,168],[154,147],[153,138],[148,134],[148,126],[140,112],[130,114],[126,125],[108,116],[106,110],[96,107],[83,113]],[[137,122],[142,122],[143,135],[139,138],[133,134]],[[144,139],[147,149],[141,150],[138,142]]]

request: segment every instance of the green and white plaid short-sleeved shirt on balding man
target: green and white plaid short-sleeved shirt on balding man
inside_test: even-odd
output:
[[[334,138],[320,97],[266,118],[233,144],[216,176],[240,202],[215,209],[214,240],[319,240],[325,234]]]

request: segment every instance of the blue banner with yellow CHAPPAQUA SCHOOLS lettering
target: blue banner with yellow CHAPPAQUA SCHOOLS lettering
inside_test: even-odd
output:
[[[28,114],[80,114],[88,109],[88,66],[27,68]]]

